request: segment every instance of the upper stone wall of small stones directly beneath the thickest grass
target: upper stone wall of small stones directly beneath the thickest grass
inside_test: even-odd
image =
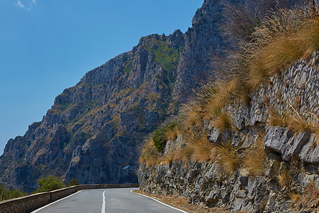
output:
[[[227,108],[238,129],[259,123],[267,124],[269,107],[281,114],[297,111],[311,119],[319,113],[319,51],[291,65],[285,72],[274,75],[269,83],[250,93],[250,107],[230,104]],[[317,120],[318,121],[318,120]]]

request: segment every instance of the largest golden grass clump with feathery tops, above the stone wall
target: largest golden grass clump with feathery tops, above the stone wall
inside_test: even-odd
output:
[[[248,84],[254,88],[319,49],[319,18],[303,8],[281,10],[267,16],[253,35],[245,57]]]

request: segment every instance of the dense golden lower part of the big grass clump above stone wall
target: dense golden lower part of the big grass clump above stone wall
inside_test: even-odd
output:
[[[263,33],[264,29],[260,29]],[[281,72],[301,58],[319,49],[319,19],[308,20],[296,32],[272,35],[271,42],[256,48],[248,62],[248,84],[258,87],[272,75]]]

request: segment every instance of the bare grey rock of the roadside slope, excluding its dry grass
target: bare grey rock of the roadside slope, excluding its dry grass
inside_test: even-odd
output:
[[[173,161],[154,168],[142,164],[140,188],[145,192],[184,196],[189,202],[225,207],[231,212],[318,212],[318,133],[269,126],[269,111],[276,109],[282,111],[282,116],[302,114],[318,128],[318,117],[313,116],[319,113],[318,58],[317,51],[308,60],[299,60],[281,75],[272,77],[269,84],[254,89],[250,93],[250,106],[240,102],[229,104],[226,109],[235,125],[233,133],[211,127],[208,141],[218,144],[231,141],[240,152],[253,146],[258,131],[265,132],[262,173],[249,175],[241,168],[228,175],[216,161]],[[175,144],[169,141],[165,152],[181,147],[180,136]],[[255,156],[256,160],[258,157]],[[306,200],[314,195],[315,201],[308,206],[293,204],[292,193],[305,196]]]

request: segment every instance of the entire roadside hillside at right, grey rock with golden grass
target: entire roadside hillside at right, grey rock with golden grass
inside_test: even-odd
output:
[[[225,77],[145,140],[140,190],[205,212],[318,212],[318,17],[312,1],[235,29]]]

